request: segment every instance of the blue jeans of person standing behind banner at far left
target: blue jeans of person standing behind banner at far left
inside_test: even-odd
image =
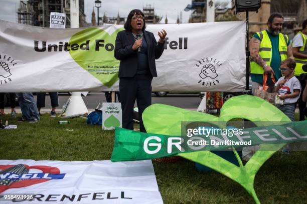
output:
[[[27,120],[40,119],[40,114],[36,106],[32,93],[17,93],[20,109],[22,110],[23,117]]]

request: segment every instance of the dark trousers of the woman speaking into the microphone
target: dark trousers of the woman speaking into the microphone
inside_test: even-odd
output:
[[[151,75],[135,74],[133,77],[120,77],[119,94],[122,109],[122,127],[133,129],[133,107],[136,99],[139,129],[146,132],[142,113],[151,105]]]

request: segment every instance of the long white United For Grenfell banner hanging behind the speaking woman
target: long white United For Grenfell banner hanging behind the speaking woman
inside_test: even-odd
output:
[[[114,44],[122,25],[52,29],[0,20],[1,92],[118,90]],[[245,88],[243,21],[150,24],[168,32],[152,90]]]

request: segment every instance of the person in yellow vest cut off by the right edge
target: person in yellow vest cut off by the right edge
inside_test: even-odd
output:
[[[294,69],[294,75],[298,78],[301,87],[305,87],[306,81],[302,79],[302,74],[307,74],[306,71],[302,69],[304,64],[307,64],[307,19],[302,23],[302,30],[299,31],[293,38],[293,56],[296,62]],[[298,98],[298,109],[299,109],[299,120],[304,120],[304,108],[306,107],[306,102],[302,100],[302,92]]]

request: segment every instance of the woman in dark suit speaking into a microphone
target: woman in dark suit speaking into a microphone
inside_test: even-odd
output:
[[[145,30],[144,14],[139,9],[129,12],[125,30],[117,33],[114,56],[119,64],[119,94],[122,126],[133,129],[133,107],[136,99],[140,131],[146,132],[142,113],[151,104],[151,80],[157,76],[156,61],[164,50],[167,35],[163,29],[157,43],[152,32]]]

